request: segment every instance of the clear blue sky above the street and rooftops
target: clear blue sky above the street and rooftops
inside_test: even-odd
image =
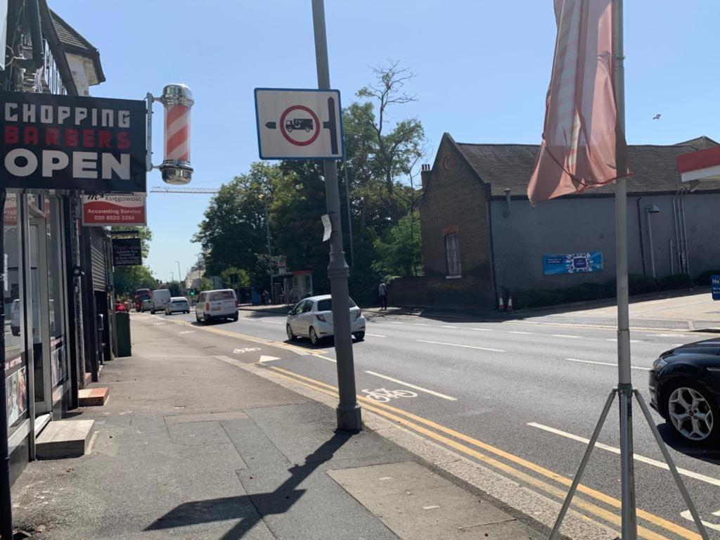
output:
[[[253,89],[317,86],[310,0],[50,0],[96,48],[107,82],[96,96],[143,99],[192,88],[194,187],[217,187],[258,161]],[[325,0],[330,79],[343,104],[371,67],[400,60],[418,102],[395,120],[423,122],[431,161],[443,132],[464,143],[539,143],[555,37],[551,0]],[[717,0],[625,2],[629,143],[720,140]],[[162,161],[156,104],[153,163]],[[652,116],[660,112],[660,120]],[[162,185],[148,175],[148,188]],[[148,194],[147,264],[177,278],[210,195]],[[320,216],[318,216],[319,222]],[[318,225],[318,230],[320,230]],[[318,233],[319,234],[319,233]]]

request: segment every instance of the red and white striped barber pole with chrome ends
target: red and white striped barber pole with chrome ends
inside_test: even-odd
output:
[[[165,107],[164,157],[159,167],[167,184],[189,184],[190,166],[190,108],[194,103],[192,91],[184,84],[168,84],[158,99]]]

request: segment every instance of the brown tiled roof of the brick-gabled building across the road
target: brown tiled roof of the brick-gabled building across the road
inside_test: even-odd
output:
[[[452,140],[450,135],[446,136]],[[628,180],[628,192],[674,192],[677,189],[678,171],[675,158],[680,154],[717,145],[714,140],[700,137],[677,145],[630,145],[630,168],[633,176]],[[525,194],[528,181],[535,167],[535,157],[539,145],[518,144],[470,144],[455,143],[460,153],[474,168],[485,184],[490,184],[492,195]],[[720,183],[703,183],[703,189],[720,189]],[[585,194],[613,193],[615,187],[610,184],[588,189]]]

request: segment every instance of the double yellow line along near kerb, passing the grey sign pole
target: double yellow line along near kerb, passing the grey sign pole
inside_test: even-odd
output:
[[[311,388],[312,390],[317,390],[319,392],[323,392],[324,394],[338,397],[337,388],[330,384],[311,379],[310,377],[305,377],[305,375],[290,372],[287,369],[282,369],[276,366],[269,367],[279,377],[289,379],[297,384],[302,384],[303,386]],[[438,441],[441,444],[449,446],[450,448],[455,449],[462,454],[471,456],[474,459],[478,459],[481,462],[489,464],[495,469],[499,469],[500,471],[504,472],[505,474],[509,474],[517,480],[521,480],[522,482],[536,487],[537,489],[545,492],[548,495],[552,495],[554,498],[563,500],[566,491],[562,490],[556,485],[552,485],[548,482],[545,482],[544,480],[541,480],[537,477],[527,474],[526,472],[516,469],[515,467],[511,467],[509,464],[501,462],[496,457],[488,454],[494,454],[495,456],[503,458],[515,465],[519,465],[520,467],[529,469],[530,471],[539,474],[539,476],[541,477],[545,477],[549,480],[553,480],[554,482],[564,485],[565,487],[570,487],[570,484],[572,483],[572,480],[570,478],[552,472],[551,470],[546,469],[545,467],[541,467],[533,462],[528,462],[528,460],[526,459],[515,456],[514,454],[510,454],[509,452],[506,452],[504,450],[498,449],[495,446],[491,446],[490,444],[478,441],[476,438],[467,436],[464,433],[459,433],[458,431],[446,428],[445,426],[435,423],[432,420],[428,420],[427,418],[414,415],[413,413],[408,413],[405,410],[392,407],[391,405],[386,405],[384,403],[370,400],[369,398],[361,395],[358,395],[357,399],[363,403],[364,408],[366,408],[367,410],[371,410],[377,415],[399,423],[406,428],[410,428],[412,431],[421,433],[423,436],[429,437],[434,441]],[[484,454],[477,449],[481,449],[486,453]],[[620,500],[610,497],[609,495],[606,495],[605,493],[598,490],[593,490],[593,488],[591,487],[580,484],[577,487],[577,491],[584,495],[587,495],[588,498],[595,499],[596,501],[611,506],[612,508],[621,508]],[[612,523],[615,526],[621,525],[621,520],[617,513],[613,513],[609,510],[606,510],[605,508],[601,508],[594,503],[588,502],[588,500],[576,496],[575,499],[573,499],[573,505],[575,505],[577,508],[585,510],[585,513],[601,518],[604,521]],[[673,534],[677,534],[678,536],[680,536],[680,538],[686,540],[702,540],[699,534],[690,531],[687,528],[678,525],[677,523],[668,521],[665,518],[655,516],[654,514],[649,513],[645,510],[638,509],[637,516],[638,518],[647,521],[648,523],[652,523],[652,525],[654,526],[665,529],[666,531],[669,531]],[[651,531],[649,528],[643,526],[638,526],[638,535],[641,538],[647,540],[669,540],[666,536],[657,534],[656,532]]]

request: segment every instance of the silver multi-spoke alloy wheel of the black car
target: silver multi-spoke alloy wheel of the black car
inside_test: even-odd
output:
[[[696,382],[678,381],[665,392],[667,422],[688,441],[709,443],[719,439],[718,404]]]

